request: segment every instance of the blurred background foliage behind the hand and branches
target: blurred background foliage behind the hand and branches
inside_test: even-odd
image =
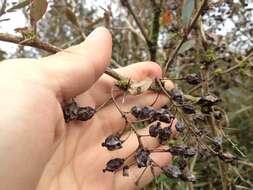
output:
[[[1,2],[1,1],[0,1]],[[3,1],[2,1],[3,2]],[[37,25],[37,37],[61,48],[80,43],[85,35],[98,26],[107,27],[113,36],[113,68],[129,65],[150,59],[150,51],[140,28],[126,6],[118,0],[99,1],[85,0],[50,0],[48,10]],[[155,9],[153,3],[160,4],[161,14],[158,18],[159,30],[156,34],[154,27]],[[184,33],[185,22],[191,10],[200,1],[184,0],[129,0],[148,37],[157,35],[156,62],[164,66]],[[188,3],[188,4],[187,4]],[[100,5],[98,5],[100,4]],[[184,7],[186,4],[188,7]],[[8,2],[7,7],[13,6]],[[189,12],[183,12],[182,10]],[[194,12],[194,11],[193,11]],[[23,8],[24,15],[27,7]],[[11,17],[10,17],[11,19]],[[184,21],[184,24],[182,22]],[[1,21],[0,22],[8,22]],[[20,26],[17,26],[20,27]],[[98,44],[99,45],[99,44]],[[209,92],[222,99],[229,126],[224,131],[238,148],[247,155],[246,160],[253,162],[253,58],[243,61],[244,57],[253,52],[253,3],[244,0],[208,1],[208,5],[199,19],[188,40],[181,47],[178,56],[169,68],[167,76],[177,79],[189,73],[214,76],[210,81]],[[99,52],[96,52],[99,53]],[[9,54],[9,55],[7,55]],[[4,57],[40,57],[47,53],[39,49],[17,48],[12,55],[5,50],[0,51],[0,60]],[[95,55],[94,55],[95,56]],[[203,63],[203,60],[205,63]],[[208,62],[208,65],[206,63]],[[237,66],[235,69],[233,68]],[[231,71],[230,71],[231,69]],[[228,72],[224,72],[228,71]],[[203,76],[203,77],[207,77]],[[194,87],[176,80],[184,93]],[[202,90],[202,91],[201,91]],[[203,93],[198,89],[191,93]],[[225,147],[229,147],[225,142]],[[235,152],[235,154],[237,154]],[[208,163],[196,163],[198,181],[195,189],[222,189],[220,176],[217,175],[215,160]],[[246,180],[253,181],[252,167],[238,165],[227,168],[231,189],[251,189],[249,184],[233,170],[240,172]],[[170,180],[160,176],[145,189],[187,189],[183,182]]]

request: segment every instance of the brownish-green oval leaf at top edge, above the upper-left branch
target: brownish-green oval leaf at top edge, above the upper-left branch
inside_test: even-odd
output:
[[[30,18],[31,21],[40,20],[47,10],[47,0],[33,0],[31,4]]]

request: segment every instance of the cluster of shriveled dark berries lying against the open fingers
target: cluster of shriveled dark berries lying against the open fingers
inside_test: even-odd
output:
[[[134,106],[130,110],[130,113],[136,118],[137,121],[148,124],[149,136],[153,138],[157,138],[160,144],[166,146],[168,140],[170,140],[172,135],[172,123],[175,117],[171,114],[168,109],[159,109],[156,110],[150,106]],[[165,124],[165,127],[162,127],[162,123]],[[167,126],[166,126],[167,125]],[[182,122],[177,121],[175,124],[175,129],[182,133],[186,129],[186,125]],[[138,134],[137,134],[138,135]],[[138,137],[137,137],[138,138]],[[139,136],[141,138],[141,136]],[[102,146],[107,148],[109,151],[121,149],[123,147],[124,140],[121,140],[120,134],[112,134],[108,136],[105,141],[102,143]],[[168,167],[160,167],[158,166],[150,157],[151,153],[155,152],[169,152],[173,156],[180,156],[181,162],[180,166],[170,165]],[[190,158],[196,154],[197,150],[194,148],[189,148],[184,145],[176,145],[172,147],[168,147],[167,149],[159,150],[159,149],[148,149],[144,147],[139,141],[138,148],[131,154],[133,157],[134,163],[139,168],[147,168],[147,167],[159,167],[166,176],[171,177],[173,179],[181,179],[183,181],[195,181],[196,177],[192,175],[187,169],[187,158]],[[128,176],[128,169],[130,165],[127,163],[126,158],[114,158],[109,160],[106,163],[103,172],[115,172],[122,170],[123,176]],[[132,160],[132,159],[131,159]]]

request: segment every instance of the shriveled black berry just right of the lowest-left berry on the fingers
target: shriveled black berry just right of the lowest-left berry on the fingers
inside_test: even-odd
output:
[[[150,151],[148,149],[139,148],[136,151],[135,160],[139,168],[147,167],[148,165],[150,165],[149,155],[150,155]]]

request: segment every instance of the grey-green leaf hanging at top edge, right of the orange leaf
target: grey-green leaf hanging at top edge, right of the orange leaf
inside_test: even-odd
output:
[[[194,10],[195,0],[184,0],[182,8],[182,23],[185,27],[188,26]]]

